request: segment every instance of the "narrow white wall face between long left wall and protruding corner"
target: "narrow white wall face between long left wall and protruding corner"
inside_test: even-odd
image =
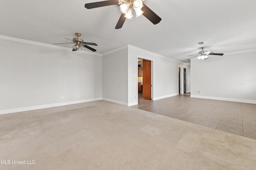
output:
[[[102,98],[110,102],[128,103],[128,48],[102,56]]]

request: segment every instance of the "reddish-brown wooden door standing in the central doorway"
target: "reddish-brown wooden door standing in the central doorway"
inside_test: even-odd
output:
[[[143,92],[146,100],[151,100],[151,61],[143,59]]]

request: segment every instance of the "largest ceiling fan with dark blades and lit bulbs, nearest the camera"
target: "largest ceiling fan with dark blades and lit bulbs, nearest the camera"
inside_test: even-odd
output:
[[[136,12],[136,16],[144,15],[152,23],[157,24],[162,19],[156,15],[150,8],[148,8],[142,1],[144,0],[106,0],[100,2],[92,2],[85,4],[84,7],[87,9],[98,8],[102,6],[118,5],[122,12],[115,29],[122,28],[126,18],[132,19],[132,7]]]

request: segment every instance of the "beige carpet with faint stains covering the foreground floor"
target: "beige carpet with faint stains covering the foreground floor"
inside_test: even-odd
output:
[[[18,170],[255,170],[256,140],[97,101],[0,115],[0,160]]]

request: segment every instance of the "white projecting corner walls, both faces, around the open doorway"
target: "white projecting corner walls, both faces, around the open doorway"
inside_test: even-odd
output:
[[[179,66],[187,68],[190,89],[189,64],[128,45],[103,54],[103,100],[126,106],[138,104],[138,57],[153,61],[153,100],[178,95]]]

